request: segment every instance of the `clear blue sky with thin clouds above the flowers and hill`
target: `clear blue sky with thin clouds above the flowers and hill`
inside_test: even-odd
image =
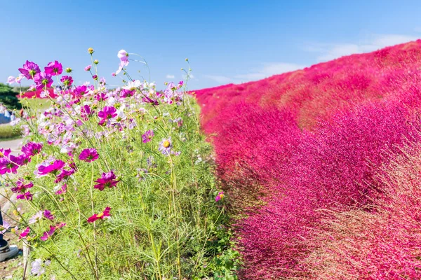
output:
[[[29,59],[55,59],[77,83],[95,49],[109,85],[125,49],[145,57],[158,85],[190,89],[258,80],[356,52],[421,38],[421,1],[1,1],[0,82]],[[140,70],[140,73],[138,73]],[[131,63],[133,78],[147,69]]]

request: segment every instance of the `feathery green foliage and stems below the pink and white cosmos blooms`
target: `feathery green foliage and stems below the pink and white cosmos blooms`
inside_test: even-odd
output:
[[[239,254],[230,248],[224,200],[215,202],[218,188],[213,150],[200,132],[199,107],[194,99],[187,98],[184,104],[149,105],[145,113],[130,116],[140,125],[123,134],[81,137],[79,145],[97,148],[100,159],[82,162],[76,156],[80,150],[76,152],[78,170],[67,180],[62,201],[54,195],[55,176],[37,179],[33,170],[51,155],[71,159],[63,158],[60,147],[46,144],[44,136],[34,131],[30,140],[44,142],[43,153],[21,167],[19,176],[34,182],[34,200],[29,202],[32,209],[49,209],[56,221],[67,224],[47,241],[39,237],[51,221],[42,219],[30,225],[32,260],[51,260],[46,267],[48,277],[236,279]],[[31,108],[29,111],[39,109],[34,102],[25,106]],[[181,127],[170,121],[175,118],[182,118]],[[35,120],[29,119],[29,127],[37,126]],[[84,125],[93,132],[104,130],[93,118]],[[141,135],[149,129],[154,130],[154,138],[142,143]],[[168,136],[180,155],[159,153],[159,142]],[[148,165],[151,158],[153,163]],[[140,168],[147,172],[139,172]],[[121,182],[116,188],[93,190],[94,181],[107,170],[114,170]],[[86,223],[89,216],[105,207],[111,207],[111,218],[95,225]],[[18,219],[25,223],[34,213],[29,211]]]

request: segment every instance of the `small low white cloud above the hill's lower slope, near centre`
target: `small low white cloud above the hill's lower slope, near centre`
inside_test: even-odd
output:
[[[205,78],[210,80],[215,80],[215,82],[220,84],[227,83],[246,83],[251,80],[261,80],[263,78],[268,78],[276,74],[281,74],[285,72],[295,71],[297,69],[304,68],[305,65],[293,64],[293,63],[265,63],[260,66],[260,68],[252,69],[249,73],[243,73],[235,75],[232,77],[229,76],[215,76],[215,75],[205,75]]]

